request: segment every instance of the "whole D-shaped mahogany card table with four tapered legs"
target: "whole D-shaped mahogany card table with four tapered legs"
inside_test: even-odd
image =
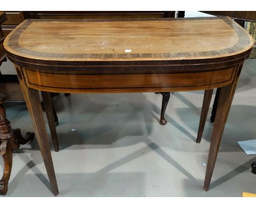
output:
[[[210,105],[208,97],[220,88],[203,185],[207,191],[238,77],[253,43],[229,17],[22,22],[7,36],[4,48],[15,64],[54,195],[59,191],[39,91],[57,151],[49,92],[206,90],[200,133]]]

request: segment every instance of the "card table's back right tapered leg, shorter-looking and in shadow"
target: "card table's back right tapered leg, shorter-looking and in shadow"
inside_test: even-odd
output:
[[[211,99],[212,99],[213,89],[205,90],[205,95],[203,96],[203,104],[202,104],[202,111],[200,117],[199,128],[197,132],[197,139],[196,143],[201,142],[203,129],[205,128],[205,122],[208,114],[208,109],[210,107]]]

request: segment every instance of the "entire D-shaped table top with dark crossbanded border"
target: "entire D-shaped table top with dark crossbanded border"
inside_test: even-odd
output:
[[[212,28],[213,26],[215,28]],[[88,31],[86,28],[89,28]],[[127,32],[127,29],[131,31],[125,36],[124,32]],[[114,31],[109,32],[109,30]],[[129,38],[130,44],[135,46],[129,47]],[[150,41],[147,42],[147,39]],[[128,42],[124,44],[124,41]],[[91,48],[84,47],[84,44]],[[59,48],[56,47],[57,45]],[[184,59],[219,58],[221,60],[224,56],[225,59],[232,60],[245,56],[251,51],[252,45],[251,36],[229,17],[125,21],[26,20],[4,41],[9,57],[21,62],[26,59],[31,63],[40,60],[39,64],[45,61],[99,62],[153,59],[183,60],[184,64]],[[213,50],[214,48],[217,50]],[[110,53],[109,49],[112,50]],[[120,52],[125,49],[131,52]],[[70,53],[72,50],[73,53]],[[81,53],[81,50],[84,52]]]

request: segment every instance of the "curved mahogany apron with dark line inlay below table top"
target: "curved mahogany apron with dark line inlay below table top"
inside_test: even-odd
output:
[[[21,67],[20,67],[21,68]],[[40,71],[21,68],[29,88],[58,93],[132,93],[219,88],[234,81],[236,66],[216,70],[159,73]],[[18,70],[19,72],[19,70]]]

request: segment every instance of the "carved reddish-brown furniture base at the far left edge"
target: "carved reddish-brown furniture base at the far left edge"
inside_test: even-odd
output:
[[[5,195],[8,190],[8,181],[13,164],[12,152],[20,148],[20,144],[26,144],[34,138],[34,133],[26,133],[21,136],[20,129],[11,129],[10,122],[6,119],[5,108],[3,105],[5,98],[0,94],[0,154],[4,161],[4,172],[0,180],[0,194]]]

